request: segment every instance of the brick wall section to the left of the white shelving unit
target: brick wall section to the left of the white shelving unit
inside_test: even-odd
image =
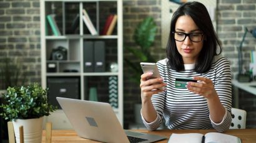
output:
[[[40,82],[39,1],[0,1],[0,60],[19,58],[28,82]]]

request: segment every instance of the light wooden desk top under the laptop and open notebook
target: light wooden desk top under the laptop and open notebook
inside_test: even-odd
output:
[[[138,131],[138,132],[145,132],[148,134],[157,134],[160,136],[165,136],[167,139],[159,142],[167,142],[170,134],[172,133],[191,133],[191,132],[197,132],[201,134],[206,134],[207,132],[216,132],[214,129],[199,129],[199,130],[193,130],[193,129],[182,129],[182,130],[159,130],[159,131],[147,131],[147,130],[132,130],[132,131]],[[45,134],[46,132],[42,132],[42,142],[45,142]],[[256,142],[256,129],[229,129],[225,132],[225,134],[230,134],[233,136],[237,136],[242,140],[242,143],[252,143]],[[78,142],[96,142],[91,141],[89,139],[83,139],[81,137],[78,137],[76,132],[72,130],[53,130],[52,131],[52,143],[58,143],[58,142],[72,142],[72,143],[78,143]]]

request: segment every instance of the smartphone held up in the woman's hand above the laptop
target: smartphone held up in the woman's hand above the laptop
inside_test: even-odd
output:
[[[152,78],[160,78],[161,77],[156,63],[141,62],[140,66],[142,68],[143,73],[152,72],[153,73]]]

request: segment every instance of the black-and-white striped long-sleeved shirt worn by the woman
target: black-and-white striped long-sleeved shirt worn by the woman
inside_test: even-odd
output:
[[[153,122],[146,122],[147,129],[157,129],[163,119],[168,129],[216,129],[224,132],[231,123],[232,85],[229,61],[220,55],[215,56],[207,73],[197,73],[194,64],[185,64],[184,71],[175,71],[167,66],[168,59],[157,62],[160,75],[167,83],[167,90],[153,95],[152,104],[157,111],[157,118]],[[204,96],[190,92],[187,88],[175,88],[175,78],[192,78],[204,76],[212,80],[220,102],[225,107],[222,122],[216,124],[210,119],[207,100]]]

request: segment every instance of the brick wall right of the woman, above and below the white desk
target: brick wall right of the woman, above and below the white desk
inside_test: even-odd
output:
[[[232,76],[238,71],[238,54],[245,27],[249,30],[256,28],[255,0],[219,0],[217,33],[222,41],[224,56],[230,60]],[[256,50],[256,39],[247,33],[242,47],[244,68],[249,70],[250,50]],[[247,128],[256,127],[256,96],[239,90],[239,108],[247,111]]]

